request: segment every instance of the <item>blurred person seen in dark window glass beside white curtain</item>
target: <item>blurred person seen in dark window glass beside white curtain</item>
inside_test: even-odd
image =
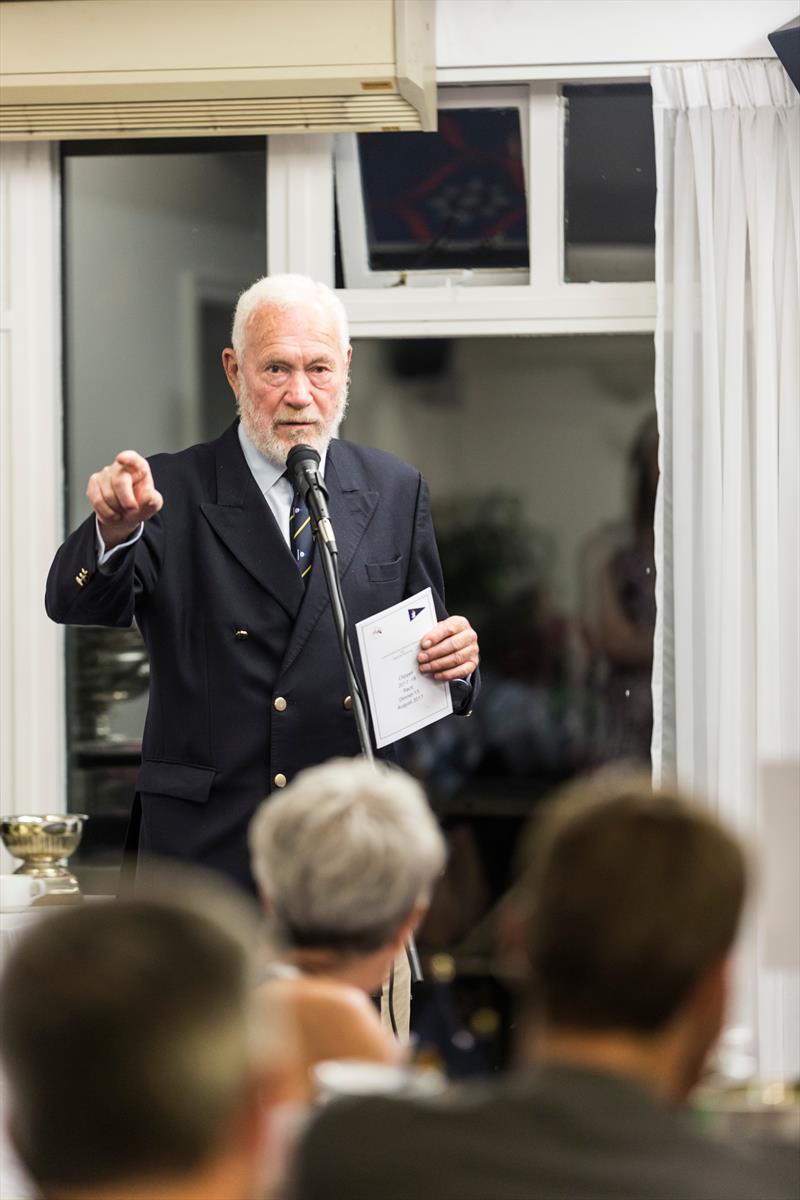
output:
[[[655,414],[631,445],[628,475],[628,520],[591,534],[581,554],[582,620],[590,652],[590,752],[596,762],[650,761],[656,628],[652,536],[658,487]]]

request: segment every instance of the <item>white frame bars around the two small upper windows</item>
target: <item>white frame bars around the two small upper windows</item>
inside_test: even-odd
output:
[[[456,80],[452,80],[453,83]],[[654,332],[655,282],[569,283],[564,280],[564,121],[565,83],[649,82],[649,72],[608,67],[595,74],[563,68],[558,77],[515,80],[527,95],[528,221],[530,271],[515,287],[452,278],[411,287],[344,287],[338,294],[350,318],[354,337],[450,337]],[[457,90],[474,103],[473,89]],[[507,88],[481,88],[483,100],[501,103]],[[312,146],[308,143],[314,143]],[[305,145],[302,143],[306,143]],[[333,284],[335,221],[332,136],[271,138],[267,143],[267,190],[285,197],[289,179],[296,187],[308,179],[302,202],[269,203],[267,246],[277,248],[269,269],[306,271]],[[312,180],[318,185],[314,186]],[[361,205],[361,211],[363,206]],[[366,235],[365,235],[366,242]],[[279,265],[277,265],[279,264]]]

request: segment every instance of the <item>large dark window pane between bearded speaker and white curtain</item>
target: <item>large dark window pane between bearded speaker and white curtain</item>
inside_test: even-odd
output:
[[[447,607],[481,638],[470,719],[398,746],[451,851],[420,949],[480,977],[540,799],[599,763],[649,760],[652,338],[360,338],[351,374],[343,434],[423,473]]]

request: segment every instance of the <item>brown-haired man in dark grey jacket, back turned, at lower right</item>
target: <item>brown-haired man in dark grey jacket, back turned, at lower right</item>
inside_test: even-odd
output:
[[[609,768],[543,808],[522,865],[506,949],[529,972],[523,1069],[426,1102],[330,1105],[293,1200],[795,1198],[795,1146],[716,1141],[680,1111],[724,1019],[738,841]]]

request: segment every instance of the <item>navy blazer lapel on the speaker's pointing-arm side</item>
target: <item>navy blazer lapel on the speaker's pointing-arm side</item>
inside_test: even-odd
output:
[[[217,503],[201,504],[203,516],[253,578],[296,617],[306,589],[245,461],[235,424],[217,442],[216,472]]]

